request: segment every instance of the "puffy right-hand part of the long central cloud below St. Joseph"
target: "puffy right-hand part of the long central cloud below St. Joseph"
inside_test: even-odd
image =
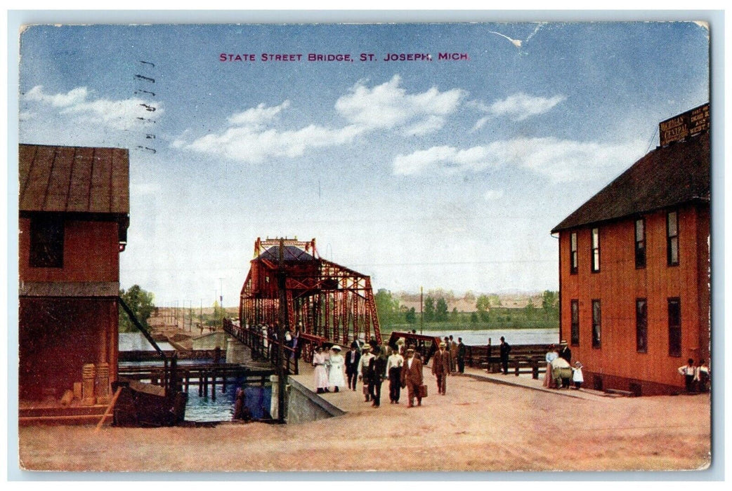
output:
[[[356,83],[351,93],[341,96],[335,109],[350,123],[365,129],[392,129],[403,126],[404,134],[424,134],[444,126],[445,117],[458,109],[466,92],[453,88],[440,92],[433,87],[420,94],[407,94],[401,77],[368,88]]]

